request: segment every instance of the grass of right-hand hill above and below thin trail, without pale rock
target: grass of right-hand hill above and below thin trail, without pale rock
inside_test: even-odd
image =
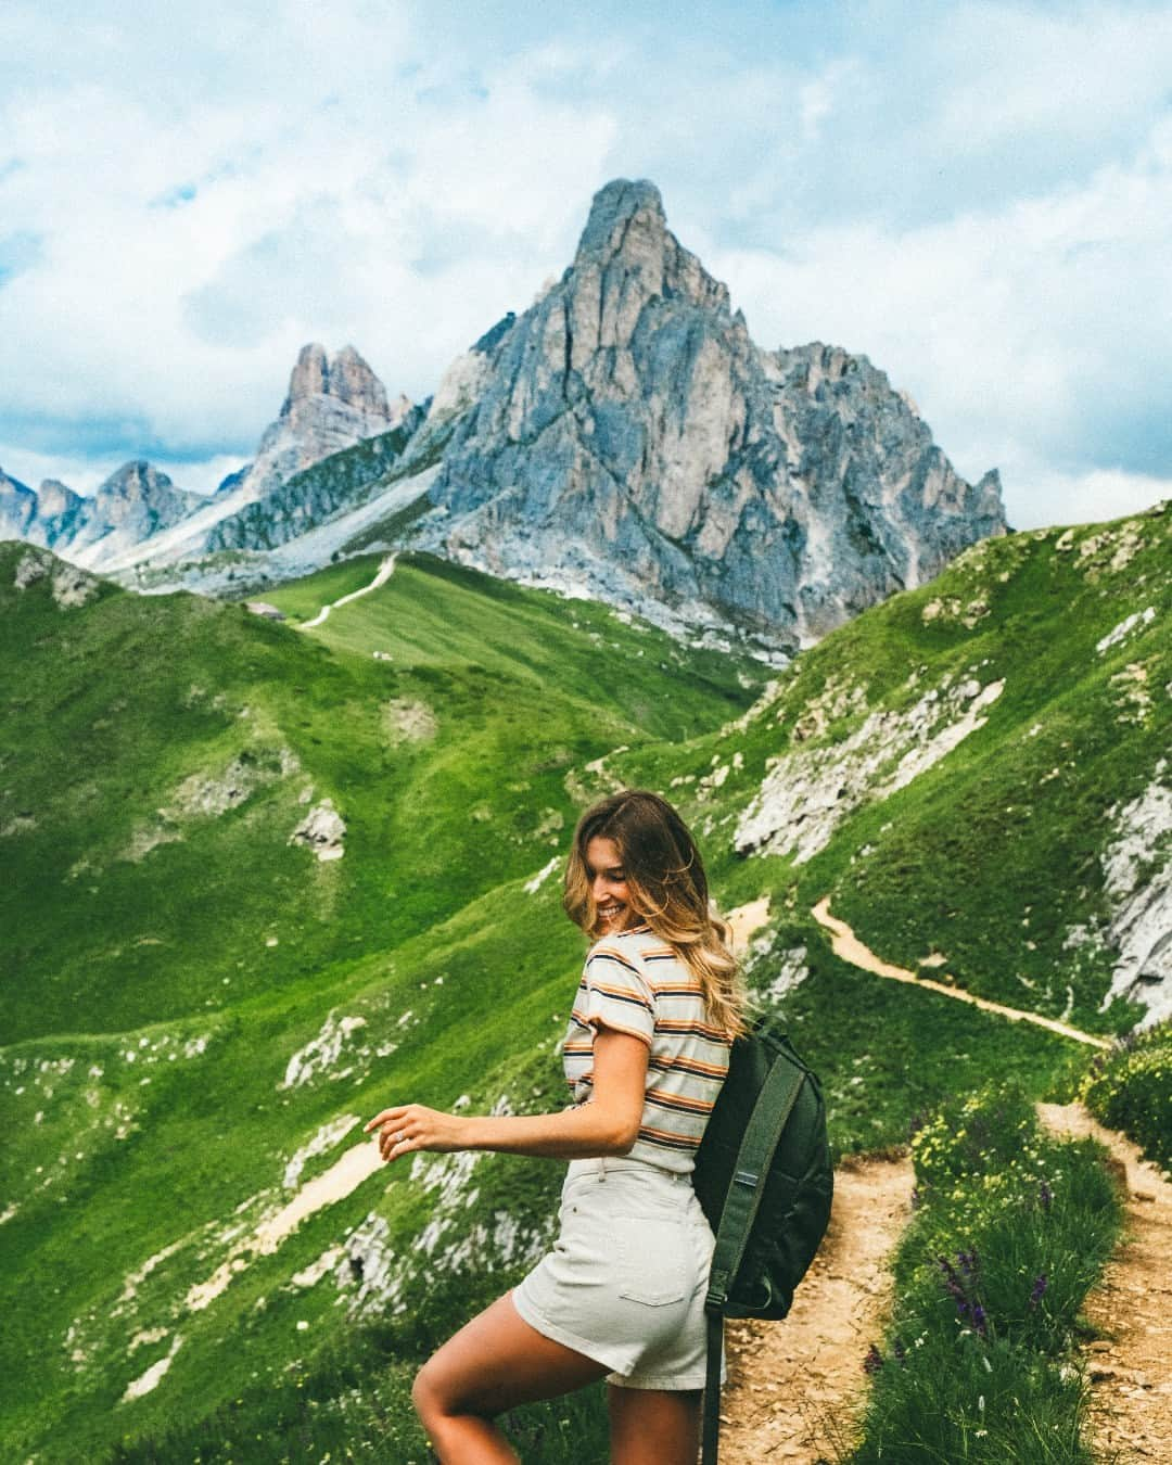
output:
[[[926,618],[933,602],[945,614],[929,609]],[[987,612],[970,627],[963,615],[974,602]],[[1154,618],[1096,652],[1149,607]],[[1065,1012],[1090,1031],[1122,1031],[1140,1015],[1124,1002],[1099,1011],[1112,955],[1065,939],[1108,910],[1099,861],[1108,810],[1150,782],[1169,746],[1171,608],[1169,505],[986,541],[930,586],[825,637],[740,725],[689,747],[608,760],[612,775],[677,800],[703,835],[727,907],[771,897],[772,948],[756,980],[769,982],[776,954],[806,948],[813,980],[791,990],[782,1011],[826,1077],[841,1150],[902,1141],[917,1108],[992,1072],[1020,1074],[1034,1097],[1072,1097],[1090,1050],[856,971],[831,954],[809,914],[823,895],[889,961],[914,968],[943,952],[942,970],[958,984],[1027,1011]],[[1127,696],[1137,665],[1150,693],[1143,709]],[[933,768],[886,797],[863,797],[801,863],[737,854],[737,825],[771,760],[810,750],[829,757],[876,709],[907,711],[965,674],[982,684],[1004,678],[1005,689],[984,727]],[[812,716],[819,705],[820,719]]]

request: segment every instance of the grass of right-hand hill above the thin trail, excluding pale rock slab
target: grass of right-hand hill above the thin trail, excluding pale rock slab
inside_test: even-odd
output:
[[[1138,548],[1112,568],[1128,524]],[[834,913],[891,961],[914,967],[942,951],[961,984],[1049,1015],[1067,1008],[1069,984],[1071,1021],[1093,1031],[1130,1027],[1138,1014],[1124,1004],[1099,1012],[1109,960],[1075,955],[1064,939],[1069,926],[1105,913],[1108,810],[1150,782],[1169,746],[1172,513],[1080,526],[1064,549],[1061,538],[1045,530],[986,541],[930,586],[894,596],[804,653],[746,728],[683,753],[633,750],[611,766],[628,779],[674,778],[680,807],[708,832],[725,898],[774,894],[793,935],[813,938],[806,913],[832,894]],[[948,598],[961,607],[983,599],[989,612],[973,627],[958,617],[924,620],[926,607]],[[1096,652],[1147,607],[1153,620]],[[1146,674],[1144,709],[1128,700],[1128,667]],[[832,752],[875,709],[907,709],[945,677],[965,674],[1004,678],[1005,690],[984,727],[933,768],[888,797],[864,797],[804,863],[735,854],[737,820],[768,759]],[[835,718],[835,700],[842,708],[853,687],[860,700]],[[829,706],[826,727],[798,741],[795,724],[819,700]],[[699,779],[713,765],[727,776],[705,791]]]

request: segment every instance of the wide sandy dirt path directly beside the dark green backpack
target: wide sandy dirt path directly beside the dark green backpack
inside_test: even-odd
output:
[[[831,1225],[778,1323],[730,1320],[721,1395],[722,1465],[816,1465],[854,1437],[863,1358],[891,1305],[888,1260],[911,1217],[910,1159],[850,1156],[835,1171]]]

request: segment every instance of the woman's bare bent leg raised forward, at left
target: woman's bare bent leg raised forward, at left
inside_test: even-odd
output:
[[[412,1401],[442,1465],[517,1465],[492,1417],[585,1389],[609,1371],[532,1329],[505,1292],[431,1355]]]

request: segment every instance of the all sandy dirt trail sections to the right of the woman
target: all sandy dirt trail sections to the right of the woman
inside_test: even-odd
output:
[[[730,913],[738,948],[768,914],[768,901]],[[1094,1047],[1108,1039],[1055,1018],[989,1002],[883,961],[829,897],[812,914],[831,933],[835,955],[895,982],[927,986],[1014,1021],[1036,1023]],[[941,965],[926,958],[923,965]],[[1081,1103],[1039,1103],[1042,1124],[1059,1138],[1093,1135],[1125,1187],[1127,1229],[1084,1314],[1102,1338],[1086,1349],[1090,1442],[1110,1465],[1172,1462],[1172,1182],[1125,1135],[1099,1124]],[[889,1261],[911,1217],[911,1159],[847,1156],[835,1171],[831,1225],[781,1323],[730,1320],[728,1383],[721,1393],[722,1465],[831,1465],[857,1439],[866,1403],[863,1358],[880,1342],[892,1301]]]

